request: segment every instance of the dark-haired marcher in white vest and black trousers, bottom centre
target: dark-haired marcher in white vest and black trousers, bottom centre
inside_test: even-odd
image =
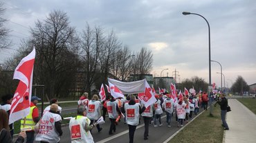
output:
[[[136,103],[135,96],[131,96],[128,103],[125,103],[125,108],[122,110],[126,113],[126,121],[129,126],[129,143],[134,142],[134,133],[139,124],[140,113],[145,111],[145,107],[140,108],[140,104]]]

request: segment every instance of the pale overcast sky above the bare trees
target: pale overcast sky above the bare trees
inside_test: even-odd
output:
[[[3,0],[1,0],[3,1]],[[180,80],[199,76],[209,80],[208,25],[210,23],[211,59],[221,63],[226,87],[242,76],[248,85],[256,83],[256,1],[255,0],[6,0],[10,20],[12,49],[21,39],[28,39],[29,29],[37,19],[44,20],[53,10],[67,13],[77,32],[89,25],[99,25],[105,32],[114,30],[118,39],[131,51],[141,47],[152,50],[152,74],[172,76],[174,69]],[[0,63],[15,50],[1,50]],[[212,63],[212,83],[220,85],[220,66]],[[178,79],[178,82],[180,81]],[[190,88],[190,87],[188,87]]]

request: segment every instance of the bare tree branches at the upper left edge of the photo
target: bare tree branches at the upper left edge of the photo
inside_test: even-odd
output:
[[[0,16],[3,15],[5,11],[6,9],[3,8],[3,3],[0,2]],[[8,33],[10,30],[4,26],[6,21],[7,19],[0,17],[0,50],[7,48],[10,45],[10,41],[8,40]]]

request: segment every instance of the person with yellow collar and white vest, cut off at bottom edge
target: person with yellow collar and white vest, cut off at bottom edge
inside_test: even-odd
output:
[[[71,118],[69,130],[71,131],[71,143],[93,143],[90,130],[97,124],[90,124],[91,120],[86,117],[86,109],[83,106],[77,108],[77,116]]]

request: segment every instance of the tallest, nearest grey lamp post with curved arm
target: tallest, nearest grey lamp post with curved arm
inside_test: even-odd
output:
[[[205,19],[205,17],[201,16],[200,14],[196,14],[196,13],[192,13],[192,12],[182,12],[183,15],[188,15],[188,14],[194,14],[194,15],[197,15],[199,17],[202,17],[207,25],[208,25],[208,34],[209,34],[209,86],[212,85],[212,78],[211,78],[211,65],[210,65],[210,25],[208,23],[208,21]],[[210,115],[212,115],[212,98],[210,98]]]

